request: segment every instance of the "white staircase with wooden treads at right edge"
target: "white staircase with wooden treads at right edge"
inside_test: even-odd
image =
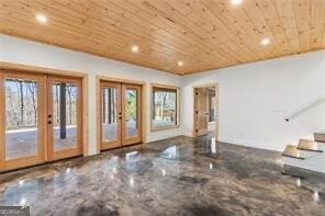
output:
[[[294,167],[325,173],[325,134],[315,133],[314,140],[300,139],[282,152],[284,167]]]

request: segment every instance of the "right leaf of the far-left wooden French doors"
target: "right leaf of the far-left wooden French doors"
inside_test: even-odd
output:
[[[81,80],[47,78],[48,160],[82,154]]]

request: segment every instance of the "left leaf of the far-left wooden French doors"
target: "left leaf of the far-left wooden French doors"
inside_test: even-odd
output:
[[[45,161],[45,76],[0,71],[0,170]]]

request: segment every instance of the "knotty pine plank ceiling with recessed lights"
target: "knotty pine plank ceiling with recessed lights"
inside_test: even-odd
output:
[[[178,75],[325,48],[325,0],[0,2],[2,34]]]

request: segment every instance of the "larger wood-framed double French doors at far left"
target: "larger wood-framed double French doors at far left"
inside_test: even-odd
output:
[[[80,80],[0,71],[0,171],[81,154]]]

